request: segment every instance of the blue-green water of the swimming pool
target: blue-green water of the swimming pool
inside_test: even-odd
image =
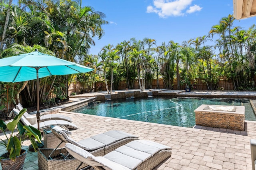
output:
[[[245,106],[245,119],[256,121],[256,115],[246,99],[203,99],[148,97],[146,99],[118,99],[91,103],[76,113],[160,123],[179,127],[194,127],[194,110],[202,104]]]

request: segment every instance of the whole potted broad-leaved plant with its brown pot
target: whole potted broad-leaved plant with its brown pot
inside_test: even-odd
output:
[[[3,170],[19,170],[23,167],[27,150],[22,149],[22,144],[26,138],[30,139],[34,150],[37,150],[38,148],[36,140],[42,143],[40,130],[32,126],[22,125],[20,123],[20,119],[26,111],[27,109],[22,109],[20,113],[13,119],[13,121],[7,123],[7,125],[3,120],[0,120],[0,130],[2,130],[7,139],[1,139],[0,141],[0,144],[4,145],[7,150],[5,154],[0,156],[0,162]],[[14,132],[16,127],[18,134]],[[11,133],[6,134],[6,129],[8,129]]]

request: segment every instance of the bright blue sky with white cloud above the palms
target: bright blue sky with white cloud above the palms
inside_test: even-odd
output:
[[[233,14],[233,0],[82,0],[106,14],[105,35],[92,46],[96,54],[104,45],[117,45],[130,38],[151,38],[159,46],[173,40],[177,43],[208,35],[222,17]],[[234,26],[248,29],[256,17],[235,20]]]

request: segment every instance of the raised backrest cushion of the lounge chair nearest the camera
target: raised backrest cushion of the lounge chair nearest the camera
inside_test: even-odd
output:
[[[116,162],[112,162],[102,156],[93,156],[90,154],[90,152],[87,152],[86,150],[82,150],[80,147],[67,143],[65,145],[65,148],[68,150],[68,152],[74,156],[74,158],[90,165],[90,166],[100,166],[103,167],[106,170],[129,170],[125,166],[122,166],[120,164],[117,164]],[[105,166],[107,165],[107,166]]]

